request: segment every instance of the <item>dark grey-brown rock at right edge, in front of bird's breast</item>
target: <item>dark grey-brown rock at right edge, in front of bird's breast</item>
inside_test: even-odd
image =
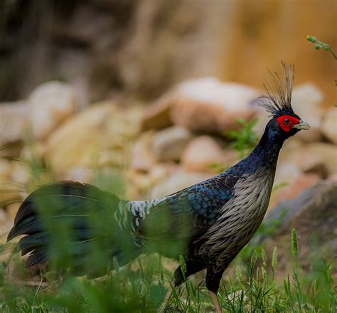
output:
[[[309,268],[309,256],[318,253],[323,257],[326,244],[336,239],[337,235],[337,181],[322,181],[303,191],[296,199],[282,201],[264,221],[266,226],[278,221],[272,238],[264,243],[267,255],[272,255],[277,247],[279,262],[277,270],[291,270],[289,262],[289,247],[291,246],[291,229],[295,228],[299,240],[299,264]],[[262,240],[262,238],[260,238]],[[336,251],[334,253],[336,255]]]

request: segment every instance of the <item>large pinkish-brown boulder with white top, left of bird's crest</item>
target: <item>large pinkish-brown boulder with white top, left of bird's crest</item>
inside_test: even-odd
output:
[[[212,77],[188,80],[146,108],[143,129],[161,129],[177,124],[198,132],[223,133],[237,129],[237,119],[255,115],[260,90],[237,83],[222,83]]]

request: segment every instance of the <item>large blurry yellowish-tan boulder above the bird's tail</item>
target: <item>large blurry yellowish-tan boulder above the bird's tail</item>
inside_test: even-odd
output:
[[[92,168],[100,161],[122,166],[127,162],[129,144],[139,132],[139,118],[137,108],[125,111],[112,102],[92,105],[50,135],[46,160],[58,179],[72,168]],[[107,160],[106,152],[112,152],[111,159]]]

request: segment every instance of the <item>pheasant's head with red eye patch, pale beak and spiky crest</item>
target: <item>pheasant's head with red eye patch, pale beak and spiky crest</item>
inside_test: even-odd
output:
[[[264,89],[267,95],[262,96],[260,105],[272,116],[267,124],[269,132],[282,139],[294,136],[301,129],[310,129],[310,126],[291,107],[291,92],[294,83],[294,65],[285,65],[282,62],[282,76],[272,73],[272,83],[266,80]]]

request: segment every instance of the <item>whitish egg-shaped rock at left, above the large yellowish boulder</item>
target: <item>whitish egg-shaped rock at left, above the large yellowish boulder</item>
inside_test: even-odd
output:
[[[57,81],[45,83],[28,97],[29,120],[37,139],[46,139],[76,109],[72,88]]]

